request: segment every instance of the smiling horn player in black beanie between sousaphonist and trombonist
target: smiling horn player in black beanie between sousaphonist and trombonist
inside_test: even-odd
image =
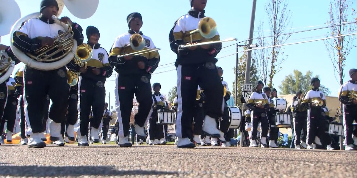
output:
[[[70,65],[67,65],[70,70],[80,72],[78,79],[78,119],[80,120],[80,130],[79,132],[77,131],[79,146],[89,146],[87,140],[91,107],[93,109],[93,119],[90,122],[90,140],[94,143],[99,142],[98,129],[102,121],[105,105],[104,83],[106,78],[110,77],[113,72],[108,61],[107,51],[100,47],[98,43],[100,38],[98,28],[88,26],[86,35],[88,38],[87,44],[93,49],[93,56],[87,62],[88,68],[79,67],[74,64],[74,61],[71,61]]]

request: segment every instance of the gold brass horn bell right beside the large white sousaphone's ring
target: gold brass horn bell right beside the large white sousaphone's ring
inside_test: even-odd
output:
[[[87,69],[88,61],[92,58],[92,56],[93,49],[88,44],[83,43],[77,47],[73,60],[79,67]]]

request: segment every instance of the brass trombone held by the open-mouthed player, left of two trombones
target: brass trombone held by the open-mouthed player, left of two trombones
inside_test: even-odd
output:
[[[131,56],[131,55],[139,56],[141,54],[146,54],[146,53],[155,52],[155,51],[160,50],[160,48],[152,48],[152,49],[143,50],[145,48],[145,40],[140,34],[137,34],[137,33],[131,35],[131,37],[129,39],[129,43],[130,44],[127,45],[126,47],[130,46],[136,52],[118,55],[118,58],[125,57],[125,56]]]

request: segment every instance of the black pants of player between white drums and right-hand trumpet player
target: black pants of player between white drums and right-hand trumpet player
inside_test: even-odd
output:
[[[304,112],[306,114],[306,112]],[[307,133],[307,115],[302,114],[296,114],[296,116],[293,118],[293,124],[294,124],[294,135],[295,135],[295,145],[300,145],[301,140],[303,142],[306,142],[306,133]],[[303,131],[303,135],[301,138],[301,130]]]

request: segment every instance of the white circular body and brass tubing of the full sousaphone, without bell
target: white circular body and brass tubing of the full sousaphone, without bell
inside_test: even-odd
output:
[[[13,34],[17,29],[21,27],[21,23],[27,21],[31,18],[36,18],[40,16],[40,13],[32,13],[21,19],[11,28],[11,34]],[[73,39],[72,27],[69,24],[60,22],[55,15],[52,16],[55,23],[61,25],[65,32],[56,36],[54,39],[54,44],[52,46],[44,46],[35,51],[33,54],[24,54],[22,51],[17,49],[12,45],[13,36],[11,35],[10,47],[14,55],[27,66],[37,69],[37,70],[55,70],[65,66],[74,58],[74,52],[77,49],[77,41]]]

